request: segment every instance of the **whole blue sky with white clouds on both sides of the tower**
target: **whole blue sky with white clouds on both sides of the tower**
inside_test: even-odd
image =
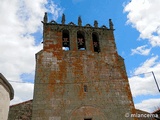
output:
[[[108,26],[112,19],[118,53],[125,59],[135,107],[160,107],[160,0],[1,0],[0,72],[15,90],[16,104],[33,97],[35,53],[42,49],[44,12],[49,21]]]

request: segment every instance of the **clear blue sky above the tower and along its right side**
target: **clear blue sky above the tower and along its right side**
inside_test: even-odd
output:
[[[128,2],[129,0],[101,0],[100,2],[97,0],[57,0],[55,4],[63,9],[66,23],[72,21],[77,24],[78,16],[81,16],[83,25],[87,23],[93,25],[94,20],[97,20],[99,26],[108,26],[108,20],[111,18],[114,23],[118,53],[127,62],[127,73],[130,75],[129,71],[138,66],[136,62],[143,62],[146,59],[144,56],[141,56],[140,59],[139,56],[131,56],[131,48],[141,46],[146,41],[138,42],[139,32],[126,23],[127,13],[124,13],[124,5]],[[49,19],[51,20],[52,17],[50,16]],[[61,17],[58,17],[56,21],[61,23]],[[133,59],[134,62],[132,62]]]

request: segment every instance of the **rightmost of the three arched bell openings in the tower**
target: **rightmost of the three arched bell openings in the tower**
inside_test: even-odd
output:
[[[99,40],[98,40],[98,35],[96,33],[92,34],[92,40],[93,40],[93,49],[94,52],[100,52],[100,46],[99,46]]]

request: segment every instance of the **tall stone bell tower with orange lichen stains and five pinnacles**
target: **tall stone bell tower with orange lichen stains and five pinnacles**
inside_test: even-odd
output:
[[[132,120],[135,112],[111,19],[103,25],[43,23],[36,54],[32,120]]]

